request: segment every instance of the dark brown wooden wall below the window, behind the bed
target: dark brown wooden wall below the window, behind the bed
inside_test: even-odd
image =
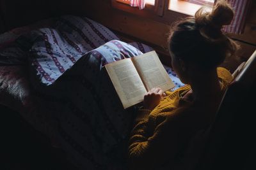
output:
[[[124,39],[136,39],[156,48],[164,56],[168,55],[167,38],[170,32],[170,24],[177,20],[177,16],[170,18],[170,23],[159,22],[145,17],[139,17],[116,10],[111,6],[111,0],[44,0],[44,1],[18,1],[0,0],[1,15],[3,16],[5,29],[12,29],[20,25],[26,25],[35,20],[56,17],[59,15],[88,16],[113,31],[119,33]],[[13,4],[16,4],[13,7]],[[1,19],[1,16],[0,16]],[[0,20],[1,22],[1,20]],[[0,27],[1,28],[1,27]],[[256,2],[253,2],[250,17],[246,22],[244,34],[230,37],[242,40],[242,48],[239,56],[247,59],[255,50],[256,45]],[[252,45],[248,45],[251,43]],[[164,62],[170,62],[169,57],[163,57]],[[238,64],[238,63],[237,63]],[[236,67],[236,66],[234,66]]]

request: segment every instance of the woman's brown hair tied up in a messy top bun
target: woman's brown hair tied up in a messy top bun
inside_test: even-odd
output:
[[[226,1],[218,1],[211,12],[202,7],[195,17],[175,23],[169,39],[169,48],[175,57],[193,62],[206,70],[216,68],[226,57],[234,55],[238,45],[221,31],[229,25],[234,11]]]

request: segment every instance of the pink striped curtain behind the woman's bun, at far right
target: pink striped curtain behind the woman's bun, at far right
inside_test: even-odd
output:
[[[234,18],[230,25],[224,27],[228,33],[241,34],[244,31],[246,15],[252,6],[252,0],[227,0],[235,11]]]

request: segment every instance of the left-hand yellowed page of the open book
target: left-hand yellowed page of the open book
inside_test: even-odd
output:
[[[147,90],[131,59],[118,60],[105,67],[124,108],[143,101]]]

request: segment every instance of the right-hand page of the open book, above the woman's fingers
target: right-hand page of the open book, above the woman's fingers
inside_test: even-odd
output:
[[[160,87],[164,91],[175,87],[155,51],[133,57],[132,61],[147,91],[156,87]]]

